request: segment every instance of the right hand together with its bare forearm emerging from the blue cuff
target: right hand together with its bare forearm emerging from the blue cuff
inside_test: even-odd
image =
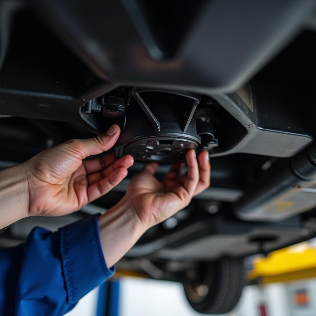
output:
[[[164,221],[187,206],[191,198],[210,185],[209,153],[186,153],[187,173],[180,177],[183,164],[174,164],[162,181],[154,174],[156,163],[145,165],[129,183],[125,196],[99,217],[102,251],[112,266],[151,226]]]

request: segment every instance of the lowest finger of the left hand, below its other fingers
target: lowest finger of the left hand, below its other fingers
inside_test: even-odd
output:
[[[126,176],[127,169],[123,167],[118,168],[105,179],[102,179],[99,182],[96,182],[88,186],[88,202],[94,201],[95,199],[101,197],[102,195],[112,190],[112,188],[115,185],[118,185]]]

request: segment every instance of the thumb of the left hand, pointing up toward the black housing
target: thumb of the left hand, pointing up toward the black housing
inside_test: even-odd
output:
[[[112,125],[106,133],[87,139],[73,139],[66,143],[71,151],[79,154],[82,159],[109,150],[118,140],[119,125]]]

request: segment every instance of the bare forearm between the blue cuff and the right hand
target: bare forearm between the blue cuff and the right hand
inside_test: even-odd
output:
[[[106,264],[112,267],[146,231],[136,212],[121,200],[99,217],[99,234]]]

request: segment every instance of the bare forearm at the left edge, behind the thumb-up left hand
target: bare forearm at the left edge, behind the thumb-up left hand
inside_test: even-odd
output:
[[[0,170],[0,228],[28,215],[28,199],[23,164]]]

